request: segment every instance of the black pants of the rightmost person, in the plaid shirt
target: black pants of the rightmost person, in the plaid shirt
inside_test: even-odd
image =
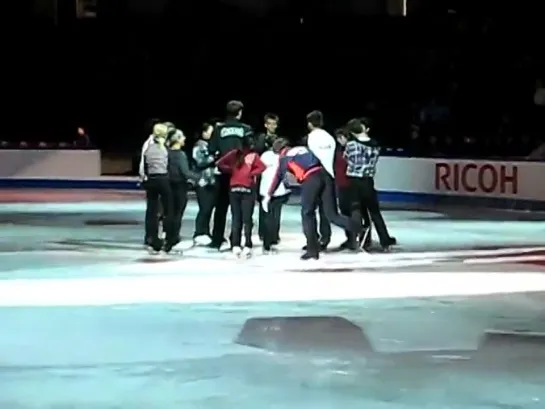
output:
[[[348,178],[350,185],[350,197],[352,202],[352,220],[361,220],[362,209],[369,211],[371,221],[375,225],[380,244],[387,246],[390,241],[390,235],[386,228],[386,223],[380,212],[378,195],[375,189],[373,178]]]

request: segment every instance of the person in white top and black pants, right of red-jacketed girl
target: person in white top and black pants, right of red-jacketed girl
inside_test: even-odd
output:
[[[283,138],[276,139],[272,148],[261,155],[261,161],[266,169],[261,174],[259,184],[260,210],[263,213],[263,220],[260,221],[260,227],[263,227],[263,252],[269,254],[276,252],[276,245],[280,242],[280,225],[282,221],[282,207],[288,202],[291,191],[286,188],[284,183],[280,183],[276,190],[272,192],[271,198],[268,197],[269,187],[272,184],[280,162],[280,152],[286,148],[288,141]],[[263,201],[265,199],[265,202]],[[263,205],[266,208],[263,208]],[[261,214],[261,212],[260,212]]]

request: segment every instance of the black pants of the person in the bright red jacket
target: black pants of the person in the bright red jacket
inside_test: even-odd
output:
[[[231,192],[231,247],[241,247],[244,229],[244,247],[252,248],[253,215],[255,195],[253,192]]]

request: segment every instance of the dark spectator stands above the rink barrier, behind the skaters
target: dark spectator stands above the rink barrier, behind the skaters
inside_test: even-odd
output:
[[[33,21],[3,51],[14,64],[4,67],[0,143],[136,152],[150,118],[189,135],[239,99],[246,122],[261,130],[274,112],[293,140],[320,109],[330,131],[369,118],[396,154],[539,160],[540,19],[532,10],[302,19],[225,6],[155,21]]]

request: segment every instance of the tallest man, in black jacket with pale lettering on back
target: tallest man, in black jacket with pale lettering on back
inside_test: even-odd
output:
[[[242,102],[229,101],[226,107],[225,121],[216,124],[210,138],[209,149],[220,160],[232,152],[249,149],[252,146],[252,128],[241,122],[243,109]],[[220,169],[220,174],[216,177],[216,207],[212,242],[210,243],[211,248],[218,250],[221,250],[222,245],[227,241],[224,235],[227,210],[229,209],[230,179],[230,175]],[[231,247],[233,246],[231,245]]]

